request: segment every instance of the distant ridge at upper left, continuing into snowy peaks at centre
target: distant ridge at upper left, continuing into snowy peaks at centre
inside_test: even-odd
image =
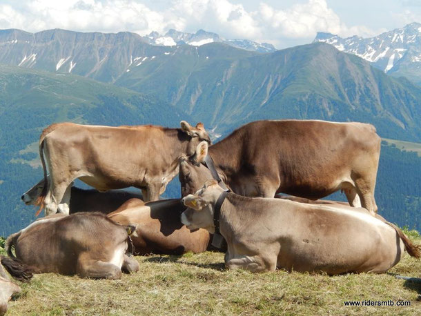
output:
[[[169,41],[170,39],[171,41]],[[104,82],[114,82],[131,65],[149,57],[169,54],[190,43],[224,42],[230,46],[255,51],[275,51],[248,40],[228,41],[215,33],[199,30],[196,34],[168,31],[164,37],[153,32],[141,37],[131,32],[99,33],[46,30],[29,33],[23,30],[0,30],[0,63],[50,72],[73,73]],[[166,46],[170,45],[168,48]]]

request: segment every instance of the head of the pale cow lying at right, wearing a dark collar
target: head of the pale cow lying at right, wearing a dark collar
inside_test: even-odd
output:
[[[209,233],[215,233],[213,212],[215,203],[224,192],[216,180],[206,181],[206,184],[194,195],[187,195],[182,199],[187,210],[182,213],[182,223],[188,229],[205,228]]]

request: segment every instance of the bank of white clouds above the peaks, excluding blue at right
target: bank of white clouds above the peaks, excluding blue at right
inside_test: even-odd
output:
[[[284,10],[261,2],[247,11],[230,0],[170,0],[166,8],[152,9],[141,0],[21,0],[3,1],[0,28],[38,32],[63,28],[85,32],[130,31],[148,34],[169,28],[195,32],[199,28],[228,39],[269,41],[278,47],[284,40],[311,41],[317,31],[341,36],[376,34],[364,26],[347,27],[326,3],[309,0]]]

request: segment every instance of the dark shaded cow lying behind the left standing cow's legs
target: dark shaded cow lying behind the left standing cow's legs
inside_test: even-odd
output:
[[[50,175],[47,176],[47,179]],[[35,186],[23,193],[21,199],[26,205],[35,205],[37,199],[41,195],[44,188],[44,179],[41,179]],[[108,192],[98,192],[97,190],[84,190],[81,188],[71,187],[70,190],[70,214],[80,212],[101,212],[104,214],[117,210],[129,199],[142,199],[140,193],[128,192],[124,190],[111,190]],[[36,214],[39,215],[39,212]]]

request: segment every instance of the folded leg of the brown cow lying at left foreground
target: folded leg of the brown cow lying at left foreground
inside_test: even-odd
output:
[[[121,268],[101,260],[81,259],[77,261],[76,273],[79,277],[94,279],[120,279]]]

